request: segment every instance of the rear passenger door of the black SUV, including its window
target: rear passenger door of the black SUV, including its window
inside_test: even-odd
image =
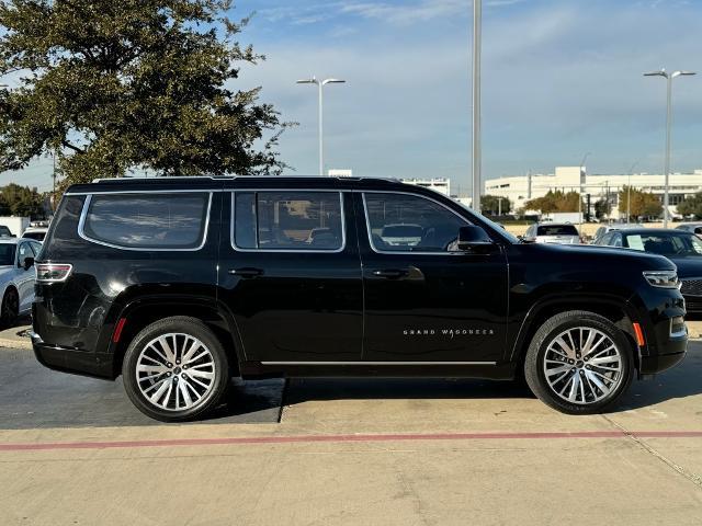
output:
[[[219,298],[247,361],[361,359],[363,287],[352,195],[337,190],[225,194]],[[348,218],[347,218],[348,217]]]

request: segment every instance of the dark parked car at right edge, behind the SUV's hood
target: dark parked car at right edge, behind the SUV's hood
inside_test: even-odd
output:
[[[702,313],[702,239],[686,230],[642,228],[610,232],[600,244],[665,255],[678,267],[680,291],[690,313]]]

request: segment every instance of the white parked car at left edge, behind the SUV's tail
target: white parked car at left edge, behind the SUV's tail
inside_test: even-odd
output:
[[[0,238],[0,325],[12,327],[34,301],[34,259],[42,243],[33,239]]]

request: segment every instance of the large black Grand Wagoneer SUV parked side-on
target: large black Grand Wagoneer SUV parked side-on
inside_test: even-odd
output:
[[[514,379],[567,413],[684,356],[665,258],[523,243],[430,190],[333,178],[71,186],[37,258],[33,344],[193,419],[233,376]]]

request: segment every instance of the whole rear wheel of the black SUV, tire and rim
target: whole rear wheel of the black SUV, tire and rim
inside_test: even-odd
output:
[[[214,408],[229,382],[227,355],[197,319],[151,323],[129,344],[122,366],[132,402],[162,422],[192,420]]]

